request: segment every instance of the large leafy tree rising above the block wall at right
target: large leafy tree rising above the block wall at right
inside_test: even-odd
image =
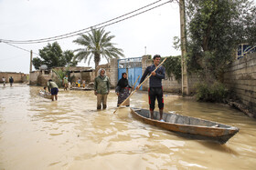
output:
[[[187,68],[221,79],[240,43],[256,42],[256,7],[251,0],[187,1]]]

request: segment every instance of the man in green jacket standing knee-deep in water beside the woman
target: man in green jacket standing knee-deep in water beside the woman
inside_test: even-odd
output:
[[[97,95],[97,109],[107,108],[107,97],[110,93],[111,83],[106,74],[106,71],[101,68],[99,70],[99,76],[94,79],[94,95]]]

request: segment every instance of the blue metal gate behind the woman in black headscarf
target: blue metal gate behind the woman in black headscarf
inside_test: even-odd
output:
[[[118,80],[122,78],[123,73],[126,73],[128,75],[129,84],[133,85],[137,80],[138,76],[140,75],[140,78],[135,86],[139,85],[143,74],[142,57],[119,59],[117,61],[117,65]]]

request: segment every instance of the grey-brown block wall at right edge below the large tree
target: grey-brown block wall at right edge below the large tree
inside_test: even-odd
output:
[[[256,112],[256,53],[247,55],[229,65],[224,83],[235,92],[243,105]]]

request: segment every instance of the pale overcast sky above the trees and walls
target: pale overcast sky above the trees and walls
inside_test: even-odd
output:
[[[154,3],[156,0],[0,0],[0,39],[31,40],[64,35],[108,21]],[[162,0],[160,5],[167,0]],[[180,55],[173,37],[180,35],[176,1],[105,27],[115,35],[112,43],[125,57]],[[58,40],[63,51],[82,46],[72,43],[79,35]],[[48,42],[52,44],[52,42]],[[38,54],[48,43],[16,46]],[[146,48],[145,48],[146,46]],[[36,57],[37,55],[33,55]],[[29,73],[30,54],[0,43],[0,71]],[[106,61],[101,61],[105,64]],[[83,62],[80,66],[87,66]],[[94,63],[91,63],[94,66]],[[34,70],[34,68],[33,68]]]

